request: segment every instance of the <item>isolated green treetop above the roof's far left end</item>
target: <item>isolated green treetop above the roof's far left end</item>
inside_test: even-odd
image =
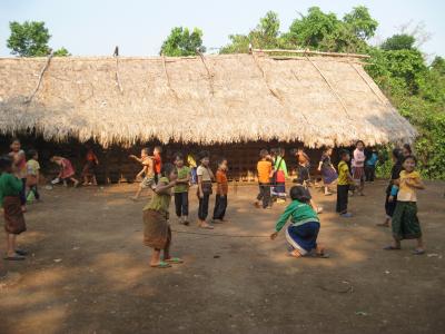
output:
[[[10,22],[11,36],[7,46],[12,55],[20,57],[41,57],[49,53],[48,41],[51,38],[44,22]]]

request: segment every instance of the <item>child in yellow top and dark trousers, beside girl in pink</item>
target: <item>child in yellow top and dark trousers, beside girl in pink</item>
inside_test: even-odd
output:
[[[347,165],[349,159],[349,153],[347,150],[342,150],[340,163],[338,164],[337,213],[344,218],[349,218],[353,216],[347,210],[349,187],[352,184],[354,184],[354,179]]]

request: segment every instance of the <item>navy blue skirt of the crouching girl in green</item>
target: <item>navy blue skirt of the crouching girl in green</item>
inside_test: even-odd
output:
[[[299,226],[290,225],[286,229],[286,239],[301,255],[317,248],[318,222],[309,222]]]

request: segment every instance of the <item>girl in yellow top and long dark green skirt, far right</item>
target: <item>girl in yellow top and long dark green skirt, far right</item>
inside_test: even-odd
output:
[[[421,224],[417,217],[417,196],[416,189],[425,189],[421,175],[415,171],[416,158],[406,156],[403,160],[404,170],[400,171],[398,184],[397,204],[393,215],[393,238],[394,244],[385,247],[387,250],[400,249],[400,240],[417,239],[417,247],[414,255],[425,253]],[[394,200],[394,198],[389,198]]]

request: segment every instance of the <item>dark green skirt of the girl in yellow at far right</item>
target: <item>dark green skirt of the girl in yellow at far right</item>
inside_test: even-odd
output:
[[[397,200],[392,226],[393,237],[396,240],[422,237],[421,224],[417,218],[417,204],[415,202]]]

